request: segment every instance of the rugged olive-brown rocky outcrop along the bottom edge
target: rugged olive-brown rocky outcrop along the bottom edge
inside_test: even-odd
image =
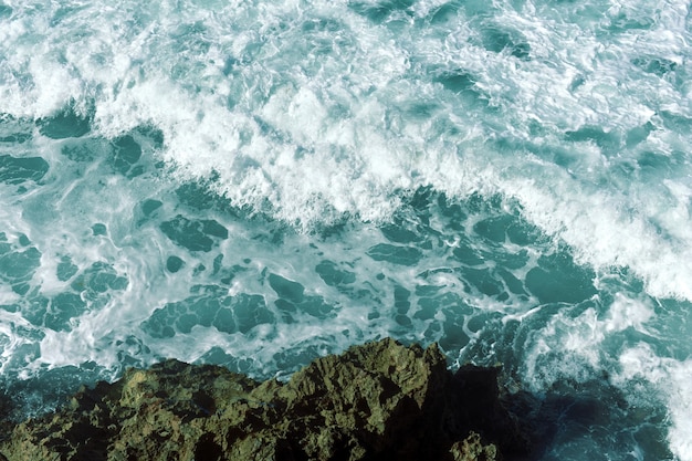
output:
[[[392,339],[316,359],[286,384],[167,360],[17,426],[20,460],[499,460],[526,449],[497,370],[452,375]],[[2,455],[0,455],[2,459]]]

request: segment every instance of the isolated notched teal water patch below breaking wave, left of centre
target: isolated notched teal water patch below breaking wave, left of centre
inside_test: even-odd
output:
[[[190,220],[181,214],[160,224],[174,243],[190,251],[210,252],[219,240],[228,239],[228,229],[213,219]]]

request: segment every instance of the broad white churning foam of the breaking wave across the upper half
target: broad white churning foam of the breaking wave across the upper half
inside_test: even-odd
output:
[[[438,3],[426,6],[417,7],[417,13],[424,15]],[[653,122],[664,133],[654,113],[675,105],[675,112],[685,115],[690,105],[665,78],[641,73],[629,77],[626,72],[641,55],[684,61],[684,2],[658,8],[651,31],[612,39],[598,35],[589,24],[568,21],[569,10],[551,13],[531,4],[520,10],[505,6],[493,21],[521,32],[531,50],[532,60],[525,62],[474,44],[470,38],[478,31],[464,21],[443,36],[412,29],[395,35],[343,6],[315,7],[344,24],[339,34],[345,44],[334,45],[336,52],[322,61],[301,54],[306,45],[292,28],[312,17],[289,2],[261,6],[262,18],[255,17],[259,6],[240,7],[230,23],[203,9],[179,11],[174,20],[174,13],[161,18],[157,14],[162,10],[139,6],[139,25],[129,23],[118,8],[97,12],[90,7],[50,25],[55,11],[19,9],[4,21],[8,40],[0,52],[8,57],[8,75],[17,77],[0,85],[0,112],[40,117],[70,101],[85,103],[84,95],[95,97],[95,125],[102,134],[154,124],[165,135],[161,155],[178,166],[179,175],[206,178],[216,171],[221,177],[218,190],[235,205],[271,211],[306,228],[342,213],[385,220],[397,208],[396,191],[423,185],[451,195],[500,191],[518,198],[527,218],[577,249],[584,262],[602,269],[629,265],[650,293],[692,298],[685,283],[692,275],[686,263],[692,261],[689,197],[674,191],[686,187],[680,179],[665,179],[675,200],[670,211],[660,211],[670,201],[652,200],[651,185],[635,182],[627,190],[618,185],[590,187],[617,168],[617,161],[593,145],[575,149],[578,161],[569,175],[549,163],[528,169],[531,156],[513,153],[514,158],[507,158],[483,146],[487,137],[504,132],[551,149],[558,143],[555,133],[587,125],[612,132]],[[647,18],[650,10],[646,2],[627,2],[612,6],[608,14]],[[102,14],[105,19],[95,20]],[[86,40],[77,44],[74,30],[85,23]],[[203,31],[190,36],[189,50],[176,50],[168,38],[196,23]],[[254,32],[258,24],[263,39]],[[207,44],[206,52],[193,53],[198,42]],[[222,61],[229,55],[237,56],[239,70],[226,76]],[[463,107],[445,106],[430,84],[402,83],[413,69],[411,56],[472,73],[478,87],[507,117],[504,126],[489,128],[497,124],[491,115],[469,119]],[[187,73],[170,74],[176,65]],[[307,76],[312,72],[316,77]],[[583,85],[570,90],[577,77],[584,78]],[[400,114],[420,102],[444,108],[422,119]],[[329,111],[337,105],[345,105],[346,112],[335,119]],[[437,133],[434,124],[443,121],[451,121],[461,134]],[[532,121],[557,132],[532,139]],[[662,143],[658,149],[665,153],[670,142],[652,134],[657,136]],[[454,145],[465,147],[454,153]],[[675,241],[659,234],[657,226]]]

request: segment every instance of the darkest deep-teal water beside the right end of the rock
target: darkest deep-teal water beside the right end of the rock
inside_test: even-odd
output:
[[[583,304],[585,308],[594,306],[590,302]],[[536,353],[525,347],[526,342],[535,340],[536,331],[572,307],[564,303],[545,305],[537,316],[521,322],[504,322],[499,313],[489,313],[484,319],[483,315],[474,315],[468,322],[469,331],[475,332],[480,326],[475,322],[481,319],[486,325],[478,329],[479,337],[462,352],[460,362],[504,365],[501,384],[506,386],[507,397],[512,399],[510,409],[523,421],[534,447],[528,459],[580,459],[587,451],[594,459],[602,458],[604,452],[638,453],[638,459],[647,461],[673,459],[667,447],[667,407],[657,397],[658,385],[635,379],[615,386],[606,369],[594,367],[589,359],[575,362],[576,357],[564,350],[551,349],[534,357],[538,364],[532,366],[533,373],[524,368],[527,363],[524,355]],[[575,318],[584,312],[579,307],[569,312],[569,316]],[[581,370],[578,378],[555,373],[564,369],[565,362]],[[522,388],[523,384],[531,386],[534,379],[547,383],[536,392]],[[647,436],[652,439],[644,441]],[[600,454],[594,450],[600,450]]]

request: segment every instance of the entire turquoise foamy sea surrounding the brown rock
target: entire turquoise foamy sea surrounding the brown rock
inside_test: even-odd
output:
[[[392,336],[692,460],[691,3],[0,1],[2,387]]]

